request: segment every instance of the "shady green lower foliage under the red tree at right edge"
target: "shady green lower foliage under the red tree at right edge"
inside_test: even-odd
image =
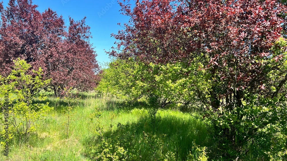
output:
[[[226,151],[226,157],[286,158],[287,53],[284,46],[286,41],[281,39],[272,47],[274,54],[269,59],[255,59],[263,65],[261,73],[245,87],[238,81],[232,93],[225,97],[219,95],[216,110],[210,108],[205,113],[208,116],[205,119],[216,127],[219,151],[223,154]],[[276,59],[278,56],[281,60]],[[224,82],[218,82],[215,87],[223,88]]]

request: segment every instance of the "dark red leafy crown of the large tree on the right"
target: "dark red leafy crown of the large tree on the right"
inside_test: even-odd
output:
[[[112,34],[120,41],[108,53],[147,63],[189,62],[200,53],[210,61],[220,53],[243,54],[250,45],[265,53],[281,35],[285,12],[271,0],[148,0],[137,1],[134,9],[124,0],[120,5],[131,19],[125,30]]]

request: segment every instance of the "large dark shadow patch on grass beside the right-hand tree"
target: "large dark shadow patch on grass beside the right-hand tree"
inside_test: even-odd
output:
[[[175,160],[186,160],[193,151],[193,142],[209,146],[208,133],[202,122],[194,118],[163,116],[156,120],[143,117],[135,123],[118,124],[116,130],[86,138],[83,145],[84,155],[91,159],[106,151],[116,154],[117,148],[122,147],[128,155],[134,156],[128,160],[161,160],[171,154]]]

